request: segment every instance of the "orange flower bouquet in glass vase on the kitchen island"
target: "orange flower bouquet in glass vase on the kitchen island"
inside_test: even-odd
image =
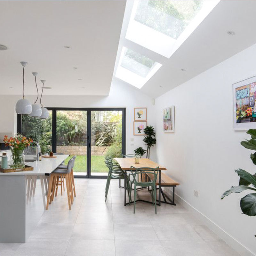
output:
[[[11,168],[23,168],[25,167],[25,156],[23,154],[24,149],[33,142],[32,139],[17,133],[14,137],[4,136],[5,146],[9,146],[12,151],[12,165]]]

